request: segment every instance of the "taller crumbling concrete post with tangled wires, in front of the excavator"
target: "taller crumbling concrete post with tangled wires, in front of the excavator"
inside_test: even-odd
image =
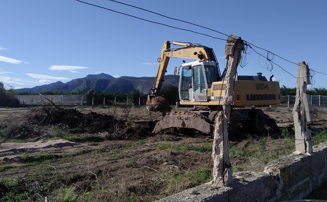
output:
[[[234,77],[241,59],[244,43],[241,37],[230,35],[225,46],[227,59],[226,91],[223,98],[223,111],[217,114],[213,139],[214,180],[213,183],[228,186],[232,183],[232,166],[228,157],[228,123],[234,102]]]

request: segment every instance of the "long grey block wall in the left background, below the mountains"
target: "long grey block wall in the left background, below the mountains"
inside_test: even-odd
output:
[[[42,97],[47,98],[55,104],[86,104],[85,95],[16,95],[20,104],[42,104]],[[45,102],[49,102],[43,99]]]

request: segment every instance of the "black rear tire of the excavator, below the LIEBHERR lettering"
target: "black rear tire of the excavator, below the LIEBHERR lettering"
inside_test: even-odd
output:
[[[251,120],[241,121],[244,130],[260,133],[265,129],[266,117],[261,109],[255,109],[251,115]]]

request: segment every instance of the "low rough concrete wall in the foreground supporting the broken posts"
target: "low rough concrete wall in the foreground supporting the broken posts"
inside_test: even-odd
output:
[[[235,173],[234,177],[242,176],[244,181],[234,181],[229,187],[215,189],[212,185],[203,184],[158,202],[275,202],[303,199],[327,179],[326,155],[327,142],[320,143],[314,146],[311,156],[284,156],[271,162],[263,173]],[[192,193],[193,190],[196,192]]]

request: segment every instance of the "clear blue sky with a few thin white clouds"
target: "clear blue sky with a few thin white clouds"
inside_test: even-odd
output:
[[[108,0],[85,1],[227,38]],[[327,1],[121,1],[238,35],[290,61],[304,60],[310,68],[327,72],[323,41],[327,32]],[[115,77],[155,76],[157,58],[165,40],[212,47],[220,67],[226,65],[225,41],[140,21],[74,0],[0,1],[0,19],[0,81],[17,88],[67,82],[101,72]],[[173,74],[174,67],[180,66],[182,60],[171,59],[167,74]],[[277,57],[273,61],[296,76],[297,65]],[[247,62],[244,68],[238,68],[238,75],[262,72],[270,76],[265,60],[253,51]],[[278,66],[274,65],[271,73],[281,86],[296,86],[296,79]],[[316,74],[314,87],[327,86],[326,80],[325,75]]]

